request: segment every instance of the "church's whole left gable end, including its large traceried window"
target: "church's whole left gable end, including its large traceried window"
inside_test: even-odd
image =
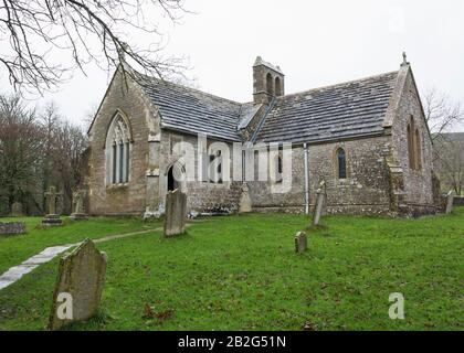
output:
[[[157,111],[119,68],[88,131],[91,214],[139,214],[146,204],[149,139],[159,133]]]

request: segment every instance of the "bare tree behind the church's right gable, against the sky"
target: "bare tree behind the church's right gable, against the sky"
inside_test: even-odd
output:
[[[436,90],[436,88],[425,92],[424,109],[425,119],[434,140],[464,121],[464,110],[461,104],[452,101],[446,94]]]

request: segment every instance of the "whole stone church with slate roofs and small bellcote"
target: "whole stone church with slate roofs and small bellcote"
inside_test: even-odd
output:
[[[398,71],[289,95],[280,66],[257,57],[253,100],[244,104],[141,74],[124,79],[122,67],[88,131],[86,188],[93,215],[162,214],[167,192],[178,188],[187,193],[191,213],[234,212],[244,183],[256,212],[308,212],[320,188],[329,213],[437,210],[431,136],[405,55]],[[241,171],[233,170],[236,163],[213,164],[220,178],[200,173],[204,160],[232,158],[210,150],[218,142],[240,158],[238,143],[261,150],[278,146],[268,169],[289,172],[291,188],[272,192],[282,180],[249,178],[245,163],[239,164]],[[199,152],[186,161],[179,143]],[[287,169],[284,143],[292,143]],[[257,158],[252,163],[262,174]],[[202,175],[179,181],[176,168]]]

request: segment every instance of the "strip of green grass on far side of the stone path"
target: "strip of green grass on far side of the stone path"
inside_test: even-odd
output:
[[[104,218],[74,222],[64,220],[64,226],[40,228],[41,217],[0,218],[0,222],[24,222],[27,234],[0,237],[0,275],[49,246],[74,244],[89,237],[93,239],[113,234],[143,231],[154,226],[137,218]]]

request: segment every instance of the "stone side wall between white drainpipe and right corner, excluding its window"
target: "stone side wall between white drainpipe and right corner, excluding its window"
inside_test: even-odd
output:
[[[390,212],[390,179],[386,157],[391,139],[373,137],[309,147],[312,203],[326,182],[328,213],[387,214]],[[337,175],[336,151],[346,152],[347,179]]]

